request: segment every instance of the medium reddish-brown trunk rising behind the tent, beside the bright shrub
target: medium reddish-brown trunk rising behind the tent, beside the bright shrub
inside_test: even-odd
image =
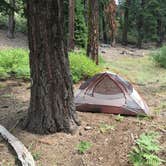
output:
[[[98,65],[99,47],[99,4],[98,0],[89,0],[88,9],[88,45],[87,56]]]

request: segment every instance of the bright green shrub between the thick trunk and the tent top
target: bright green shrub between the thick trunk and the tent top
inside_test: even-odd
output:
[[[70,70],[74,83],[82,79],[87,79],[100,71],[100,68],[86,57],[83,51],[71,52],[69,57]]]

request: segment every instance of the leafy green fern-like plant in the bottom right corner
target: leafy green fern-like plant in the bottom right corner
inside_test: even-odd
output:
[[[132,152],[129,154],[130,161],[134,166],[159,166],[164,162],[157,155],[161,150],[157,140],[158,136],[156,132],[140,135]]]

